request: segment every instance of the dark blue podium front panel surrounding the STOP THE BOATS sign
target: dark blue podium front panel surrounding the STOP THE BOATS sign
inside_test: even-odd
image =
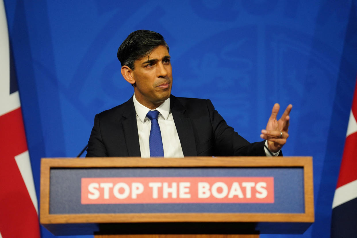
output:
[[[274,203],[81,204],[81,178],[273,177]],[[50,214],[304,213],[303,168],[52,168]]]

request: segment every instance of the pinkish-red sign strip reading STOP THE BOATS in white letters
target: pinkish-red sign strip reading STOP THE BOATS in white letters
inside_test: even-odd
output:
[[[82,178],[81,203],[274,203],[274,178]]]

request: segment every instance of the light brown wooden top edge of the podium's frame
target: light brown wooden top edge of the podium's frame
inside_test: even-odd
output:
[[[49,167],[305,167],[312,157],[91,157],[42,158]]]

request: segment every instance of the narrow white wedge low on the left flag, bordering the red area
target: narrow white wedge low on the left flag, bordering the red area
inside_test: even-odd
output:
[[[19,167],[22,179],[24,179],[27,192],[29,192],[30,198],[34,207],[36,209],[37,215],[39,214],[39,209],[37,206],[37,197],[35,192],[35,184],[34,179],[32,177],[31,163],[29,151],[25,151],[20,155],[15,156],[15,161],[17,163],[17,167]]]

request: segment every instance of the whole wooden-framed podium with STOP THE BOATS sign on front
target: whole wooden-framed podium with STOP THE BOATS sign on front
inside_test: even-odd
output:
[[[311,157],[43,158],[54,235],[259,237],[314,222]]]

